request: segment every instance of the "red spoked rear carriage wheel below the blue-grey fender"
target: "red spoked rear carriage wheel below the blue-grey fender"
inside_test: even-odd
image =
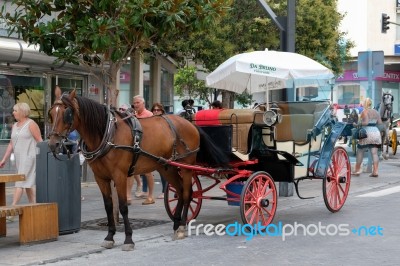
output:
[[[335,147],[322,185],[325,205],[329,211],[337,212],[343,207],[350,189],[350,172],[346,150]]]

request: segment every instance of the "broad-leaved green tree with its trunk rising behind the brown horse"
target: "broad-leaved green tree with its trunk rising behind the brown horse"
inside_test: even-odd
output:
[[[58,60],[100,66],[116,104],[118,70],[134,52],[152,49],[170,31],[209,27],[231,0],[12,0],[0,18],[9,34]]]

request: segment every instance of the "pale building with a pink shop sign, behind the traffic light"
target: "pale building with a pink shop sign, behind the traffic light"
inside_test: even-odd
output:
[[[345,15],[340,29],[347,32],[347,38],[355,47],[351,49],[354,61],[346,64],[345,72],[336,79],[333,102],[359,104],[369,97],[376,106],[381,102],[382,93],[391,91],[395,99],[393,114],[400,116],[400,27],[389,24],[387,32],[382,32],[382,14],[387,14],[389,21],[400,23],[400,1],[338,0],[338,10]],[[368,72],[359,76],[359,67],[373,70],[374,66],[368,68],[371,63],[381,64],[379,58],[368,61],[370,59],[365,57],[368,52],[383,52],[382,75]]]

